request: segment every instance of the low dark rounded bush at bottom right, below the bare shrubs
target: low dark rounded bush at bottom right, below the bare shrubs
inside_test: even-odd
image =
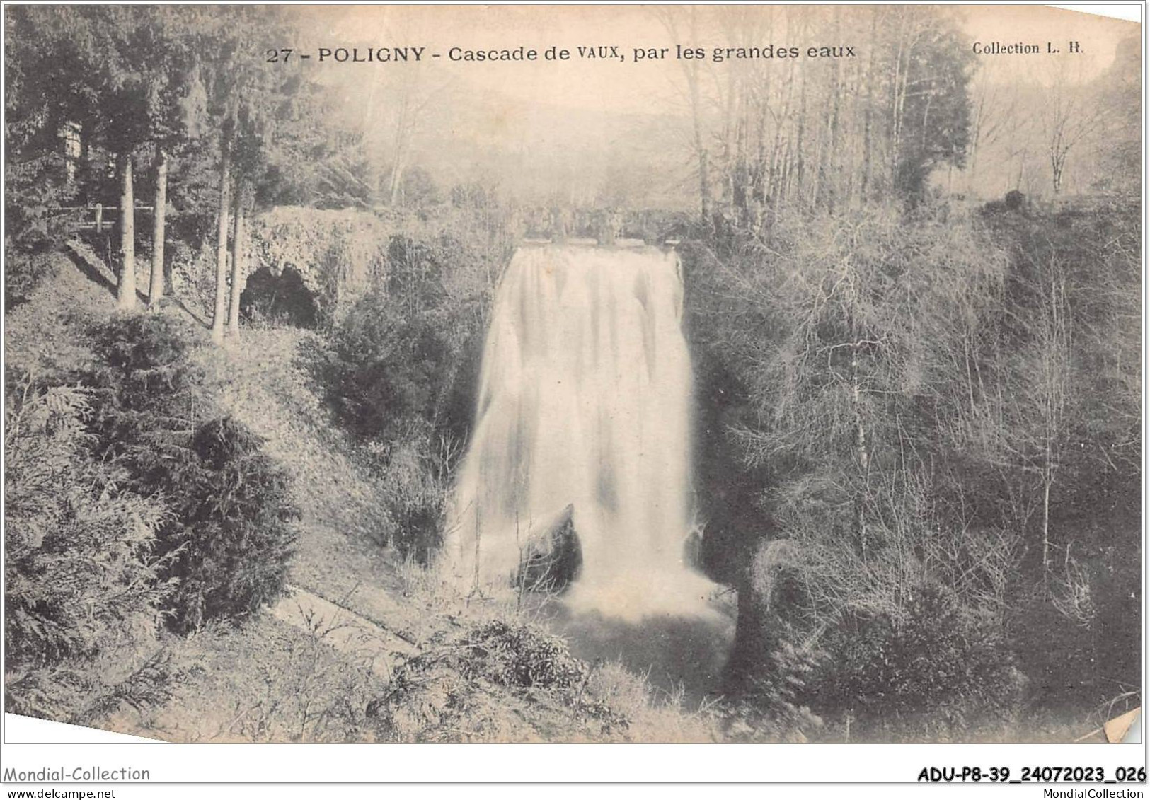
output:
[[[815,710],[852,740],[948,741],[1009,721],[1021,678],[997,625],[964,620],[956,597],[914,586],[906,615],[845,616],[829,630],[812,680]]]

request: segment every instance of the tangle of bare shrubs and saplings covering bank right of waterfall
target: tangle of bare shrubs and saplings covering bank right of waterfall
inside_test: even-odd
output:
[[[726,431],[702,446],[704,554],[769,608],[743,620],[736,683],[781,679],[761,657],[781,645],[751,640],[782,621],[843,670],[808,680],[835,736],[848,715],[960,736],[1014,707],[1012,664],[1064,676],[1073,698],[1041,702],[1083,713],[1136,684],[1112,652],[1136,640],[1117,561],[1138,547],[1136,236],[1124,207],[871,208],[689,252],[704,418]]]

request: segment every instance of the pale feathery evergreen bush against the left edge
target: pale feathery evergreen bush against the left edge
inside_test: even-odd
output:
[[[5,433],[7,707],[70,720],[100,692],[97,659],[156,633],[164,509],[93,457],[87,392],[22,385]]]

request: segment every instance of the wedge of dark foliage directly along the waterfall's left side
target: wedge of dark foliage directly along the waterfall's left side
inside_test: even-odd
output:
[[[376,226],[378,224],[376,223]],[[362,443],[391,511],[378,539],[427,559],[471,422],[507,220],[470,208],[389,236],[369,289],[306,354],[335,418]]]

